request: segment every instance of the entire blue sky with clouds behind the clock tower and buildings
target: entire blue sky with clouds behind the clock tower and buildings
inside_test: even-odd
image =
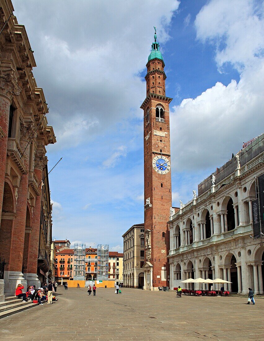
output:
[[[13,0],[50,107],[53,237],[123,250],[144,221],[145,64],[153,26],[173,98],[173,206],[263,132],[263,2]],[[169,215],[169,212],[168,212]]]

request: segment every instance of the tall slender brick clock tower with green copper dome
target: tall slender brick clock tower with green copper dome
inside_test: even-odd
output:
[[[145,263],[144,289],[169,286],[167,255],[170,238],[167,222],[171,207],[170,120],[166,97],[164,61],[156,41],[146,67],[144,110],[144,224]]]

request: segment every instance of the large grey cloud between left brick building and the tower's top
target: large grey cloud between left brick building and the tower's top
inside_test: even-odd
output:
[[[13,1],[35,51],[33,72],[50,106],[49,124],[60,136],[53,150],[87,141],[124,116],[142,116],[145,82],[139,71],[145,67],[153,25],[159,23],[159,41],[167,41],[179,3]]]

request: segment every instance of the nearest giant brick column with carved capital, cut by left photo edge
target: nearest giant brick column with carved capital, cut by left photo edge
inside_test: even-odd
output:
[[[13,96],[18,96],[20,91],[21,89],[17,85],[14,70],[10,67],[5,68],[5,70],[0,70],[0,222],[4,194],[10,105],[12,103]],[[3,236],[1,238],[3,238]]]

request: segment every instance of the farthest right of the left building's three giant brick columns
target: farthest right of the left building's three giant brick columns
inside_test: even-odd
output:
[[[42,181],[43,167],[47,164],[47,157],[44,155],[35,155],[35,167],[34,172],[36,174],[38,183]],[[38,187],[40,195],[36,197],[35,207],[32,214],[32,231],[29,240],[28,250],[28,264],[27,264],[27,281],[32,285],[40,285],[40,281],[37,277],[37,259],[38,259],[38,246],[40,242],[40,215],[41,215],[41,185]]]

